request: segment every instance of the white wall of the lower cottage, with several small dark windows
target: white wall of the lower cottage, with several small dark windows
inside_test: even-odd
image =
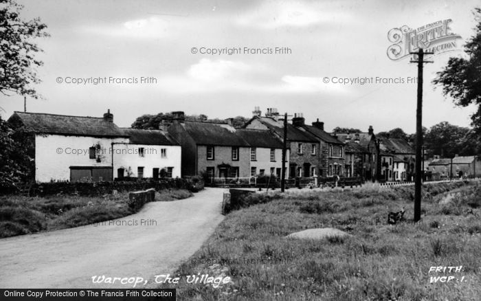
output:
[[[138,153],[144,148],[144,157]],[[161,148],[166,148],[166,157],[161,157]],[[142,144],[114,144],[113,177],[117,177],[118,168],[131,170],[131,177],[137,177],[137,167],[144,167],[144,177],[153,177],[153,168],[173,167],[172,177],[181,177],[181,146],[161,146]]]

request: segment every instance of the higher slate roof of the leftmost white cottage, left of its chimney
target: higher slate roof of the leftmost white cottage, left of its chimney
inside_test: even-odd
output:
[[[36,133],[93,137],[125,137],[122,130],[104,118],[25,113],[15,111],[9,122],[21,122]]]

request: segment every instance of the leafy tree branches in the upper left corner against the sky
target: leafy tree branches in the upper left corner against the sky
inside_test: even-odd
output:
[[[38,98],[31,85],[40,82],[36,67],[43,63],[36,60],[35,54],[42,50],[32,38],[49,34],[39,18],[23,21],[22,9],[23,5],[14,0],[0,0],[0,92],[5,96],[17,93]]]

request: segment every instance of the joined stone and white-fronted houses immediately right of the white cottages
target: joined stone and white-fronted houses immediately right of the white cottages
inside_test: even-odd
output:
[[[282,143],[270,131],[235,129],[232,123],[189,122],[173,112],[166,126],[182,146],[182,175],[205,175],[209,182],[250,181],[278,175]]]

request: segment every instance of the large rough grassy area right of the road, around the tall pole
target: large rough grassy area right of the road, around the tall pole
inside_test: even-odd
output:
[[[250,197],[179,267],[181,282],[170,287],[178,300],[478,300],[480,183],[425,186],[423,194],[421,223],[409,220],[412,186]],[[408,220],[388,225],[388,212],[402,207]],[[285,238],[315,227],[351,235]],[[458,273],[429,272],[460,265]],[[186,282],[199,273],[229,276],[232,283]],[[458,281],[431,283],[435,276]]]

